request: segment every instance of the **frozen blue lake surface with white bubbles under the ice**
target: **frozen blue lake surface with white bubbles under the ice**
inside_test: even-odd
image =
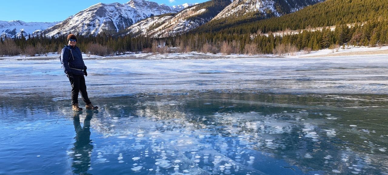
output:
[[[388,57],[0,60],[0,174],[388,175]],[[80,100],[81,101],[81,100]]]

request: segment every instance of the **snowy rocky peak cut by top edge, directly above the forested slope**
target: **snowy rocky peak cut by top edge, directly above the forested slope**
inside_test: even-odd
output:
[[[263,18],[282,16],[296,12],[307,5],[323,2],[325,0],[232,0],[213,20],[227,17],[252,17],[260,15]],[[250,13],[251,15],[247,15]]]

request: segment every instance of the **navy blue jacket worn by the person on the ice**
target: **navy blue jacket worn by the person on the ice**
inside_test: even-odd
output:
[[[83,75],[83,70],[86,70],[81,50],[77,46],[72,47],[68,45],[63,47],[60,58],[62,58],[62,67],[66,74]]]

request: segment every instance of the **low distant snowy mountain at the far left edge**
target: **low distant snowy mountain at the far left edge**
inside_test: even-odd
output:
[[[21,37],[22,33],[24,37],[28,38],[28,34],[35,34],[41,32],[47,28],[56,25],[59,22],[42,23],[42,22],[29,22],[24,21],[0,21],[0,38],[13,38]]]

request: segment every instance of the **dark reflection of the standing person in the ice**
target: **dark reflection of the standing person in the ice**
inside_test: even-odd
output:
[[[73,124],[75,129],[75,142],[72,151],[73,173],[76,174],[88,174],[87,171],[90,168],[90,159],[92,157],[93,145],[90,140],[90,120],[92,119],[92,111],[86,112],[85,120],[83,121],[83,127],[80,122],[80,113],[74,113]]]

